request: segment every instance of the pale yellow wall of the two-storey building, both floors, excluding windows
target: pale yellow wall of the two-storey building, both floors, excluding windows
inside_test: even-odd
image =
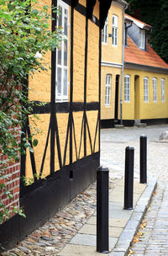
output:
[[[112,45],[112,37],[108,37],[108,44],[102,43],[102,61],[111,62],[112,64],[122,64],[123,56],[123,8],[116,6],[113,2],[108,12],[108,34],[112,34],[112,17],[118,16],[118,45]],[[110,95],[110,105],[105,105],[106,93],[106,75],[112,75],[112,86]],[[119,75],[119,84],[121,84],[121,66],[106,67],[102,64],[101,70],[101,120],[114,119],[115,108],[115,83],[116,75]],[[120,88],[120,86],[119,86]],[[118,92],[118,116],[119,116],[119,99]]]

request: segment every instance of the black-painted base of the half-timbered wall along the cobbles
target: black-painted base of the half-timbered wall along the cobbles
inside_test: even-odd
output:
[[[0,225],[3,248],[12,248],[87,189],[96,180],[99,159],[100,153],[94,153],[73,163],[71,167],[61,168],[46,180],[25,187],[20,205],[24,207],[26,218],[16,215]]]

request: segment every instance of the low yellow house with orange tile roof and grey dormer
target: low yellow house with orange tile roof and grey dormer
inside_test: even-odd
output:
[[[124,51],[123,125],[167,122],[168,65],[147,43],[150,25],[129,20]]]

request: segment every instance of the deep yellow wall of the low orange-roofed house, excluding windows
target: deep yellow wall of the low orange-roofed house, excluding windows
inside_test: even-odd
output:
[[[123,120],[160,119],[168,117],[168,75],[133,69],[124,69],[124,75],[130,76],[131,89],[130,102],[124,102],[123,85]],[[138,76],[135,85],[134,76]],[[149,78],[149,102],[144,102],[144,77]],[[152,79],[154,77],[157,78],[157,102],[153,101]],[[165,79],[165,102],[161,102],[161,78]]]

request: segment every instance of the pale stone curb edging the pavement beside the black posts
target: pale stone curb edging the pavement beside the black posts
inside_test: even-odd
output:
[[[150,178],[148,186],[144,189],[143,195],[141,195],[137,205],[134,208],[133,214],[123,229],[121,236],[118,238],[118,243],[113,252],[109,256],[127,256],[129,248],[133,242],[134,235],[139,230],[139,225],[144,218],[144,214],[147,211],[153,193],[157,187],[156,179]]]

